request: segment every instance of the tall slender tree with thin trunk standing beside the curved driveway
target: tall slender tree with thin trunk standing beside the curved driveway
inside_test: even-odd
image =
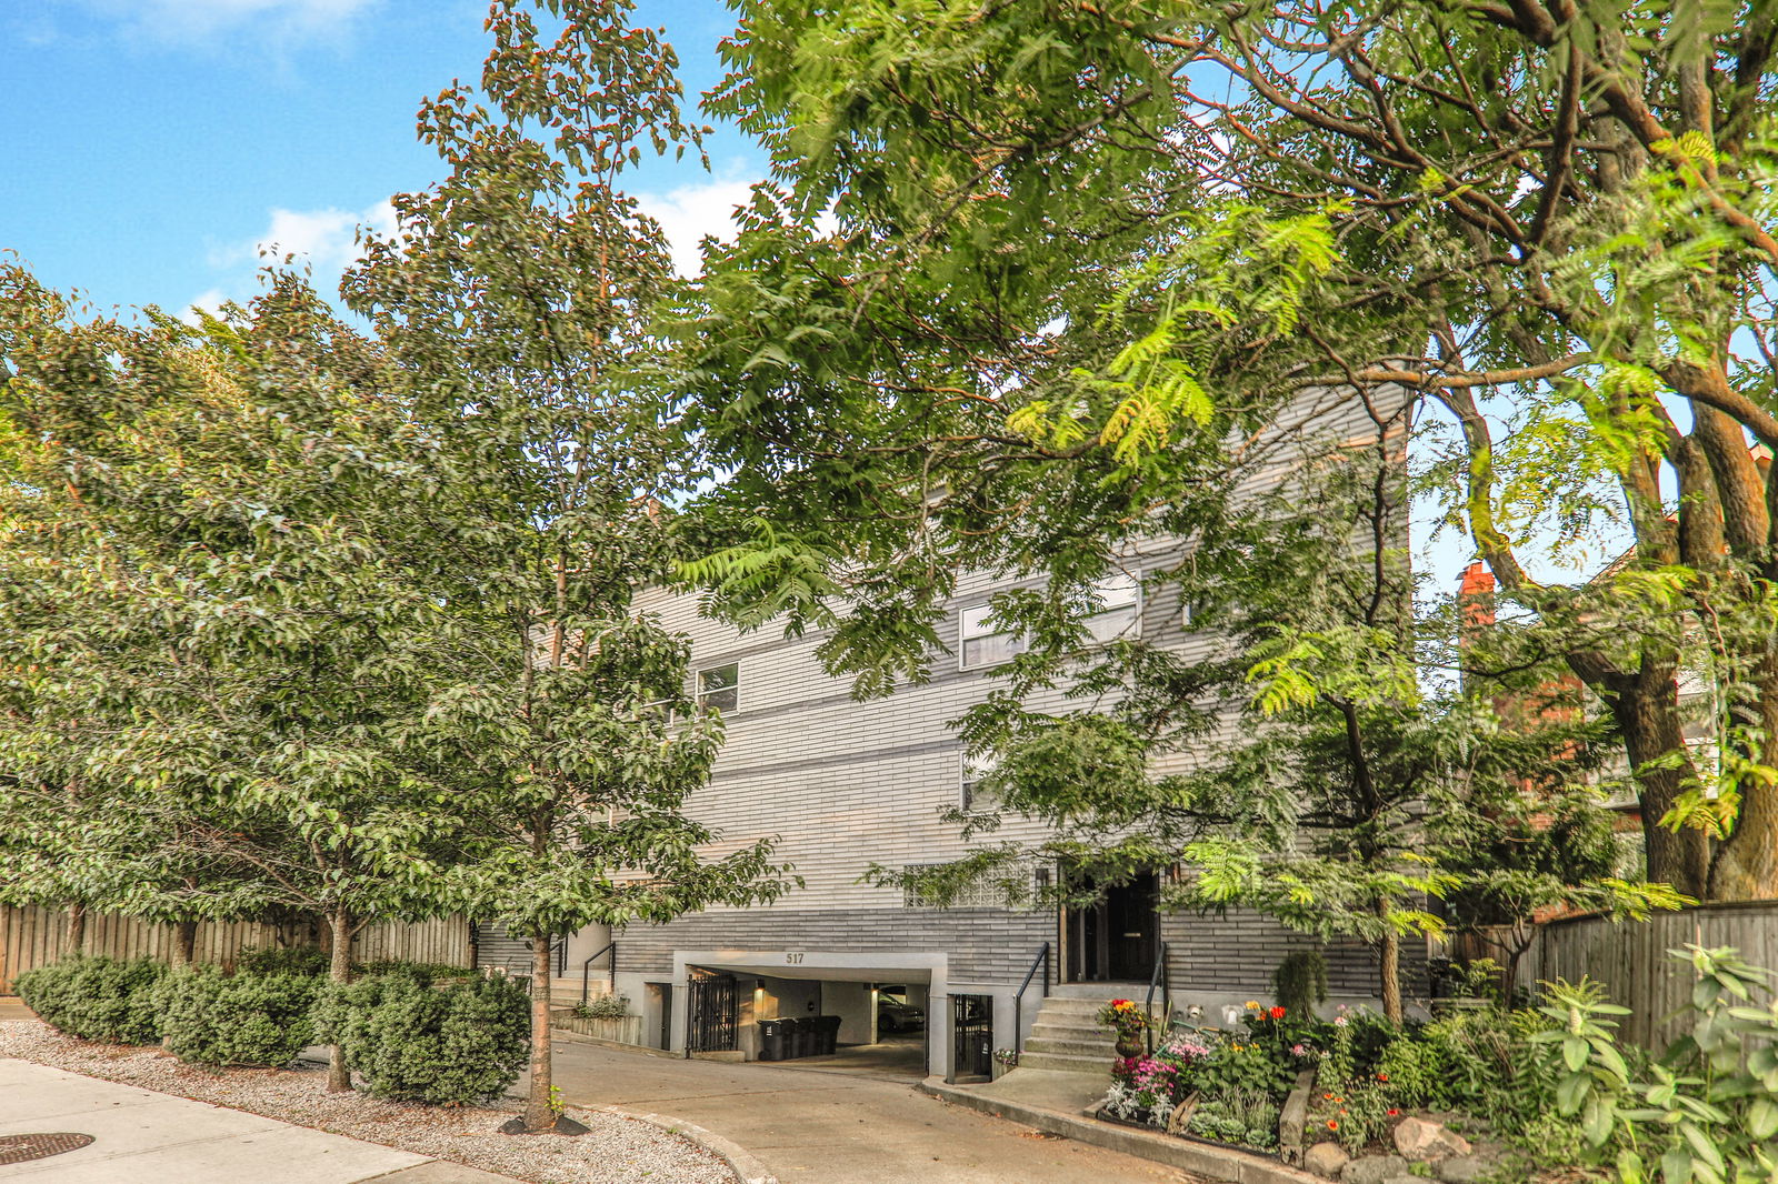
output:
[[[683,638],[635,604],[679,546],[695,480],[649,370],[672,283],[660,226],[619,188],[644,149],[695,148],[674,57],[624,0],[501,0],[480,96],[420,112],[448,176],[395,199],[345,283],[434,432],[457,644],[411,732],[466,823],[450,884],[532,939],[525,1131],[551,1097],[549,940],[786,887],[770,843],[720,844],[685,812],[720,747],[686,697]]]

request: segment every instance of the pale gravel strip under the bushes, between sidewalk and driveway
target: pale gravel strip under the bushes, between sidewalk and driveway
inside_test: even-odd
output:
[[[690,1140],[619,1115],[576,1111],[580,1138],[512,1136],[496,1127],[517,1106],[416,1106],[327,1093],[320,1067],[210,1070],[158,1049],[87,1044],[39,1020],[0,1022],[0,1056],[244,1109],[316,1131],[450,1159],[533,1184],[734,1184],[734,1172]]]

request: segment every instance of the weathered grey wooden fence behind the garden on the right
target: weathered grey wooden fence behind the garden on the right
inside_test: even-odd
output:
[[[1652,1049],[1677,1038],[1689,1020],[1675,1017],[1691,997],[1691,971],[1668,956],[1670,949],[1734,946],[1753,965],[1778,971],[1778,901],[1702,905],[1657,912],[1648,921],[1613,923],[1586,916],[1550,921],[1518,964],[1518,981],[1604,983],[1613,1003],[1632,1010],[1620,1031]]]

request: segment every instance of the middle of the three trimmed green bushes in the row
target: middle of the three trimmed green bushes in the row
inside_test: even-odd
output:
[[[315,1044],[309,1008],[320,980],[311,974],[235,974],[197,967],[162,980],[167,1047],[194,1065],[279,1068]]]

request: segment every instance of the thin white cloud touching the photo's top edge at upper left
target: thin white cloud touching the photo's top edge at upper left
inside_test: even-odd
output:
[[[64,0],[144,41],[224,46],[252,41],[281,53],[343,37],[377,0]]]

